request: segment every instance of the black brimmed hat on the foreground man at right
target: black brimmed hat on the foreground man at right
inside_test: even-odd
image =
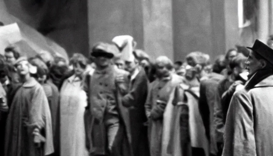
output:
[[[273,49],[268,47],[268,45],[264,44],[263,42],[256,40],[252,47],[246,47],[246,48],[257,52],[265,60],[273,64]]]

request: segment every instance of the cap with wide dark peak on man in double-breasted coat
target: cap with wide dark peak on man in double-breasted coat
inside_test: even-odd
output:
[[[109,44],[99,42],[95,44],[94,48],[92,49],[91,55],[94,57],[106,57],[109,59],[112,59],[114,57],[114,54],[109,48]]]

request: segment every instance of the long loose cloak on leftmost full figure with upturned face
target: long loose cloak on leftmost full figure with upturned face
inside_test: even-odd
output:
[[[45,137],[34,145],[35,129]],[[54,152],[51,114],[43,87],[30,78],[20,87],[11,104],[5,132],[5,156],[42,156]]]

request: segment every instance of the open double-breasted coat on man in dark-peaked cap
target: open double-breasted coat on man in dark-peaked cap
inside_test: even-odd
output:
[[[122,147],[121,151],[115,151],[122,153],[123,155],[133,155],[132,150],[132,139],[131,139],[131,130],[130,130],[130,120],[129,120],[129,110],[122,105],[122,97],[128,93],[128,73],[124,70],[114,68],[113,66],[108,67],[105,71],[98,71],[106,74],[106,77],[111,77],[107,82],[95,82],[92,80],[92,76],[97,72],[91,71],[84,78],[84,90],[87,93],[87,110],[85,111],[85,130],[86,130],[86,145],[90,154],[92,155],[107,155],[109,151],[107,149],[107,133],[105,131],[105,124],[103,122],[97,122],[103,120],[103,113],[105,111],[105,104],[114,104],[117,106],[119,114],[119,130],[115,137],[113,147]],[[100,88],[92,88],[94,83],[100,83]],[[93,86],[94,87],[94,86]],[[104,93],[113,91],[115,99],[101,99],[101,101],[106,101],[98,105],[97,102],[91,100],[92,91],[96,91],[99,94],[99,97],[104,97]],[[112,147],[112,148],[113,148]],[[115,149],[117,149],[115,148]],[[114,151],[113,151],[114,152]]]

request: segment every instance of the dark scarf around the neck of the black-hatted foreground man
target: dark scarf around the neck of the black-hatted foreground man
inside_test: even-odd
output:
[[[271,75],[273,75],[272,69],[261,69],[257,71],[256,73],[254,73],[254,75],[250,75],[251,77],[249,76],[249,80],[245,84],[245,89],[253,89],[256,84]]]

